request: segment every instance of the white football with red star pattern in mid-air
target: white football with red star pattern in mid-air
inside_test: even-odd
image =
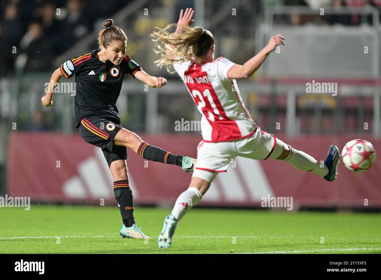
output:
[[[354,139],[345,144],[341,152],[346,168],[355,172],[367,171],[376,160],[373,145],[364,139]]]

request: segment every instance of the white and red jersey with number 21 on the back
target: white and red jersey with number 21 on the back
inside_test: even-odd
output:
[[[202,114],[201,129],[205,142],[243,139],[256,129],[243,104],[237,82],[227,78],[234,65],[223,57],[203,64],[196,63],[194,59],[173,64]]]

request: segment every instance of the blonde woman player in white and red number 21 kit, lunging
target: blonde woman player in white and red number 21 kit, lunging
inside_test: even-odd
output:
[[[332,145],[321,165],[305,152],[262,131],[243,104],[236,79],[253,75],[276,46],[285,45],[283,36],[271,37],[267,46],[243,65],[223,57],[214,59],[213,34],[202,27],[190,27],[193,14],[192,9],[186,9],[184,14],[181,10],[178,24],[152,34],[159,43],[157,53],[161,56],[156,64],[165,66],[169,72],[173,67],[180,75],[202,114],[203,137],[197,147],[197,163],[189,188],[178,197],[171,215],[165,218],[158,241],[160,248],[171,246],[178,221],[200,201],[217,174],[226,172],[235,157],[275,158],[333,181],[340,156],[338,148]],[[169,33],[174,26],[176,31]]]

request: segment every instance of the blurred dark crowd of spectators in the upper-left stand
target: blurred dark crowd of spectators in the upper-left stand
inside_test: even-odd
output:
[[[15,69],[50,71],[55,56],[93,30],[94,23],[111,17],[128,2],[113,0],[105,5],[103,0],[1,1],[0,74],[5,76]]]

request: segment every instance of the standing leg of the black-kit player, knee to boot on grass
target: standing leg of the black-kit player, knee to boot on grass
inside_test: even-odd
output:
[[[140,230],[134,219],[133,196],[128,182],[127,168],[124,160],[114,160],[110,165],[114,178],[114,195],[118,202],[123,226],[120,236],[123,238],[150,238]]]

